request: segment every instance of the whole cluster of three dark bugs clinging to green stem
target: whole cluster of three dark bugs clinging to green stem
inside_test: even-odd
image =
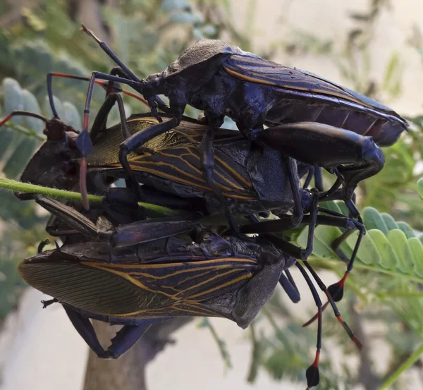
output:
[[[54,214],[48,231],[63,245],[44,252],[41,245],[38,255],[20,264],[23,278],[54,297],[47,304],[65,307],[99,357],[117,358],[145,327],[166,317],[226,317],[245,328],[278,283],[298,302],[288,270],[295,265],[318,307],[317,353],[306,373],[308,387],[316,386],[324,307],[305,268],[360,346],[335,303],[364,234],[353,195],[357,183],[384,165],[374,141],[391,145],[405,121],[372,99],[221,41],[197,42],[163,73],[139,80],[94,39],[118,67],[110,75],[92,74],[80,135],[60,121],[54,108],[51,76],[60,74],[48,76],[54,118],[42,118],[48,140],[22,177],[65,189],[79,183],[85,210],[36,197]],[[106,101],[88,133],[95,83],[103,83]],[[143,95],[152,115],[127,119],[118,83]],[[121,123],[106,128],[116,102]],[[184,117],[187,104],[204,110],[205,120]],[[8,118],[15,114],[25,113]],[[221,129],[224,116],[233,118],[240,132]],[[336,174],[326,191],[321,168]],[[313,173],[317,188],[309,190]],[[125,178],[127,188],[108,189],[116,178]],[[105,190],[102,205],[88,210],[87,193]],[[319,207],[323,200],[342,200],[350,217]],[[151,217],[140,201],[170,207],[174,215]],[[264,218],[269,212],[278,219]],[[283,235],[300,224],[309,226],[306,248]],[[348,262],[347,272],[329,288],[307,262],[317,224],[344,229],[333,245]],[[348,259],[339,245],[356,229],[357,244]],[[125,325],[106,351],[89,318]]]

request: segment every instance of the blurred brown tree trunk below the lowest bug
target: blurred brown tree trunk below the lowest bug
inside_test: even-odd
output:
[[[152,325],[135,346],[118,360],[102,360],[90,351],[84,390],[147,389],[145,367],[168,343],[174,342],[171,334],[190,320],[189,317],[180,317]],[[97,321],[93,321],[93,325],[99,341],[105,346],[109,345],[118,328]]]

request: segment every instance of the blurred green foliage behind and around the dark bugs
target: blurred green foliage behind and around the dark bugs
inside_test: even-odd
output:
[[[117,0],[114,6],[102,7],[98,13],[83,13],[84,1],[45,0],[18,10],[13,4],[0,0],[0,115],[13,109],[27,109],[50,117],[47,104],[46,73],[59,72],[90,77],[91,71],[109,72],[114,63],[97,47],[90,37],[80,32],[80,20],[95,31],[138,76],[162,71],[176,59],[180,51],[201,37],[223,38],[247,51],[254,51],[250,31],[255,22],[255,0],[247,2],[245,25],[235,28],[235,15],[229,0]],[[34,6],[34,4],[36,6]],[[276,51],[289,57],[295,54],[324,56],[336,64],[345,85],[375,99],[386,101],[401,92],[402,65],[393,52],[379,80],[372,78],[371,45],[374,24],[381,11],[389,7],[387,0],[369,0],[367,12],[350,13],[353,26],[348,30],[344,47],[336,47],[331,39],[322,40],[310,32],[290,28],[283,39],[269,42],[269,49],[257,52],[271,59]],[[86,18],[89,18],[88,20]],[[421,50],[421,47],[419,47]],[[423,53],[423,52],[422,52]],[[309,71],[313,71],[309,69]],[[422,69],[423,71],[423,69]],[[65,78],[54,79],[54,95],[59,114],[66,123],[80,129],[80,116],[85,102],[87,83]],[[104,91],[94,92],[92,115],[104,99]],[[147,108],[125,97],[125,109],[145,112]],[[197,116],[197,111],[187,112]],[[357,204],[368,228],[357,256],[357,264],[348,279],[347,293],[339,305],[343,317],[367,345],[357,354],[348,343],[345,332],[329,315],[324,323],[324,349],[321,355],[321,384],[319,389],[350,389],[357,382],[367,390],[379,389],[380,384],[400,372],[403,362],[410,359],[419,364],[416,346],[423,344],[423,245],[419,234],[410,228],[423,230],[423,202],[417,193],[417,180],[422,177],[418,162],[422,161],[423,115],[408,118],[410,132],[393,147],[384,150],[386,166],[377,176],[360,184]],[[109,123],[118,121],[114,111]],[[42,123],[30,118],[14,118],[0,129],[0,161],[5,176],[18,178],[42,138]],[[324,177],[326,185],[333,178]],[[46,217],[39,216],[30,202],[19,202],[13,195],[0,192],[0,208],[4,228],[0,257],[0,322],[16,306],[23,283],[16,264],[35,252],[37,243],[46,238]],[[343,212],[338,204],[328,205]],[[341,208],[340,208],[341,207]],[[364,209],[364,207],[367,207]],[[387,214],[389,212],[389,214]],[[402,221],[398,221],[402,220]],[[295,231],[291,238],[304,245],[307,230]],[[331,241],[341,234],[338,228],[319,226],[316,231],[313,261],[319,269],[331,270],[342,276],[345,264],[331,250]],[[350,254],[357,236],[348,239],[341,249]],[[329,311],[329,310],[328,310]],[[250,327],[252,356],[247,379],[255,380],[264,369],[275,379],[305,381],[305,369],[312,360],[316,328],[300,328],[301,319],[291,311],[278,294]],[[312,313],[310,313],[312,315]],[[264,323],[271,325],[262,327]],[[377,332],[369,331],[372,325]],[[212,331],[226,367],[231,358],[224,335],[207,319],[202,327]],[[374,329],[374,327],[373,327]],[[391,348],[388,367],[384,372],[373,368],[369,353],[372,343],[383,340]],[[327,341],[345,356],[334,367],[325,349]],[[332,347],[331,347],[332,348]],[[357,367],[347,357],[359,356]],[[405,367],[405,366],[404,366]],[[340,386],[342,384],[342,387]],[[392,389],[402,389],[400,380]]]

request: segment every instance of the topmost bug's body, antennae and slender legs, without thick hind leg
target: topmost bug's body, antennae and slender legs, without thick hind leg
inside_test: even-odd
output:
[[[92,73],[85,106],[85,123],[90,112],[92,86],[97,78],[130,85],[145,97],[152,107],[152,114],[157,118],[157,108],[173,114],[170,121],[150,126],[132,135],[121,145],[119,160],[137,190],[139,188],[128,164],[128,154],[147,140],[178,126],[187,104],[204,110],[208,126],[203,138],[202,169],[207,183],[222,202],[223,197],[212,179],[212,141],[214,131],[221,126],[225,116],[233,118],[238,129],[248,139],[282,152],[290,149],[286,144],[291,136],[301,146],[307,141],[333,137],[330,133],[313,130],[304,133],[295,131],[294,134],[279,131],[281,126],[278,125],[284,123],[328,124],[360,135],[371,135],[381,146],[392,145],[407,127],[403,118],[379,102],[312,73],[266,61],[219,40],[200,40],[180,54],[164,72],[140,80],[104,42],[83,25],[82,29],[119,66],[112,75]],[[168,97],[170,107],[157,99],[157,95],[161,94]],[[270,128],[264,129],[264,125]],[[87,156],[91,150],[86,126],[78,138],[78,149],[83,156]],[[333,149],[331,152],[338,152],[340,156],[343,154]],[[316,162],[316,154],[319,151],[314,145],[305,146],[298,153],[298,160],[307,164]],[[319,157],[328,158],[325,155]],[[352,185],[347,188],[347,199],[353,195],[353,190]],[[229,215],[227,207],[225,211]]]

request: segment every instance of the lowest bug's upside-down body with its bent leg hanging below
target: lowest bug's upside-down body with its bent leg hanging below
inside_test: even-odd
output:
[[[24,260],[18,270],[65,305],[73,321],[79,318],[75,327],[99,357],[118,358],[141,336],[135,329],[146,318],[226,317],[247,327],[293,264],[264,239],[202,230],[196,243],[171,237],[125,250],[99,242],[63,245]],[[86,329],[87,317],[124,324],[121,332],[133,329],[131,339],[104,351]]]

